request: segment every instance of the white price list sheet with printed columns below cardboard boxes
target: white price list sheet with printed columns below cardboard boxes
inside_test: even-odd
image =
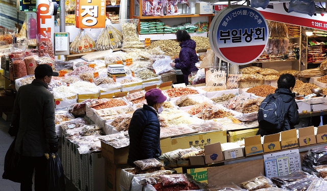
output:
[[[281,151],[264,155],[265,171],[268,178],[284,176],[301,170],[298,149]]]

